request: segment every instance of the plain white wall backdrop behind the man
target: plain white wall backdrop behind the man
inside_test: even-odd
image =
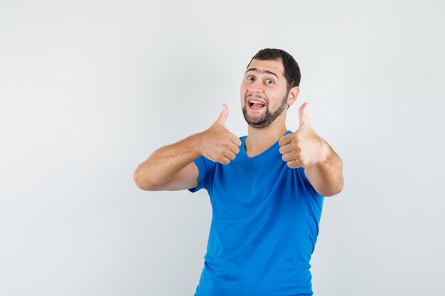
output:
[[[0,0],[0,295],[193,295],[208,194],[137,165],[204,131],[262,48],[301,67],[343,159],[311,259],[317,296],[444,295],[442,1]],[[271,295],[274,296],[274,295]]]

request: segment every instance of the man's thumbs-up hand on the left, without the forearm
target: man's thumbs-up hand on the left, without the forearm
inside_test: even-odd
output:
[[[206,158],[222,165],[228,165],[230,160],[240,153],[240,138],[225,128],[225,120],[229,115],[229,109],[223,104],[221,112],[215,123],[206,131],[200,133],[200,153]]]

